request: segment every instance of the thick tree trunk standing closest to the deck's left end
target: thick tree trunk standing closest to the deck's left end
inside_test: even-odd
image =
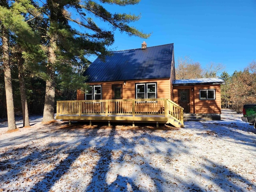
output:
[[[49,122],[54,120],[54,97],[55,97],[55,68],[56,61],[55,54],[56,42],[54,36],[50,39],[48,64],[46,66],[46,73],[48,79],[46,80],[46,90],[44,98],[44,116],[42,122]]]

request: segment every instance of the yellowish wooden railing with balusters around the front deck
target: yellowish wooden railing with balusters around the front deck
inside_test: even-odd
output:
[[[59,115],[160,115],[183,126],[183,108],[168,99],[118,99],[57,101]]]

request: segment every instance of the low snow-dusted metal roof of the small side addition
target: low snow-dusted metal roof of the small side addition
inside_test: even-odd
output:
[[[220,78],[179,79],[173,82],[173,86],[207,85],[207,84],[225,84],[225,82]]]

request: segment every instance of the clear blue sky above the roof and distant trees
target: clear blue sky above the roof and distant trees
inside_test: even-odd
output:
[[[230,75],[256,60],[256,0],[141,0],[133,6],[106,6],[110,12],[141,14],[130,23],[150,38],[115,31],[112,50],[174,43],[176,65],[189,56],[206,68],[222,64]]]

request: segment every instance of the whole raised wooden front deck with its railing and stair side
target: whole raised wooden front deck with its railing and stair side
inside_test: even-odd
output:
[[[152,122],[183,127],[183,108],[168,99],[57,101],[64,121]]]

